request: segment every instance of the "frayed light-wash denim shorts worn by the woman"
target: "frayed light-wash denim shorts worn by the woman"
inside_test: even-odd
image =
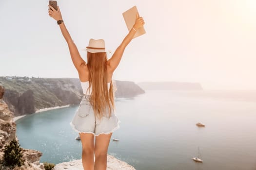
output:
[[[103,116],[101,119],[98,119],[94,115],[92,105],[86,98],[89,99],[89,95],[83,95],[79,107],[70,122],[73,130],[78,133],[91,133],[94,136],[98,136],[100,134],[109,134],[119,129],[121,121],[115,112],[112,112],[109,118]]]

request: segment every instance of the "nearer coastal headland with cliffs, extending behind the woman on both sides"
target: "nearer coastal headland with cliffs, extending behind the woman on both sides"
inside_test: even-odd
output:
[[[134,82],[117,81],[115,97],[134,97],[145,91]],[[78,78],[0,77],[5,88],[3,100],[15,116],[40,109],[79,104],[82,88]]]

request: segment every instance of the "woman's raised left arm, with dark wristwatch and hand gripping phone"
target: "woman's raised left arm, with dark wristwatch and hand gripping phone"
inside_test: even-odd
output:
[[[48,5],[52,10],[49,9],[49,16],[53,17],[55,20],[62,20],[62,16],[61,16],[61,12],[59,10],[59,6],[58,6],[58,11],[56,11],[51,5]],[[81,58],[78,48],[76,46],[76,44],[74,43],[74,41],[72,40],[70,34],[68,33],[68,30],[64,24],[64,22],[62,22],[61,24],[59,24],[59,28],[61,30],[62,35],[64,36],[67,44],[68,44],[68,48],[70,51],[70,55],[71,55],[71,59],[72,62],[75,66],[75,68],[80,72],[81,68],[84,67],[86,65],[86,62]]]

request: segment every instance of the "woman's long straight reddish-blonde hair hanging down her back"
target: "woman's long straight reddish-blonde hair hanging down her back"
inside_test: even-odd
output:
[[[89,101],[93,107],[94,114],[99,119],[102,116],[111,116],[115,109],[114,96],[117,90],[111,80],[110,88],[107,85],[107,54],[106,52],[91,53],[87,51],[87,68],[89,69],[89,87],[91,95]],[[107,108],[108,107],[108,108]]]

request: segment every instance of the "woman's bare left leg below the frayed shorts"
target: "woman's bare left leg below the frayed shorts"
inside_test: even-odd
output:
[[[84,170],[94,170],[94,135],[79,133],[82,142],[82,165]]]

